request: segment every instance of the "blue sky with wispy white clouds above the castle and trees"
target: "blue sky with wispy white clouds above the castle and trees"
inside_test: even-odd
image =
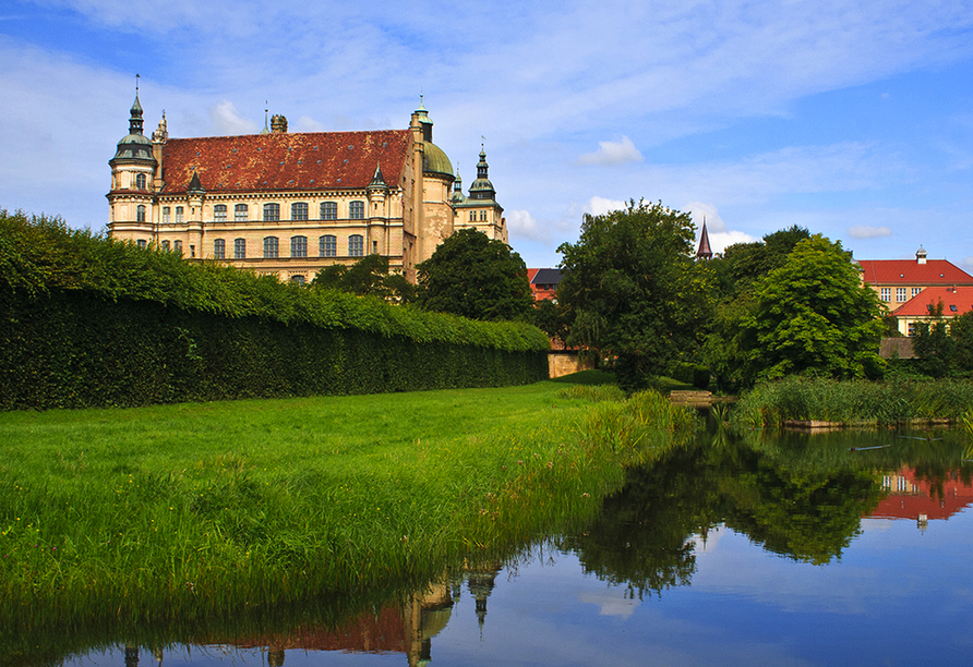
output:
[[[4,0],[0,208],[104,230],[136,74],[171,137],[405,129],[421,95],[530,267],[646,199],[716,252],[798,225],[973,271],[973,0]]]

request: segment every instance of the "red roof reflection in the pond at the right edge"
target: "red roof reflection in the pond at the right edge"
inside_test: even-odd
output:
[[[882,475],[882,487],[888,492],[869,514],[872,519],[909,519],[925,530],[929,520],[946,520],[973,505],[973,484],[959,478],[957,471],[944,480],[930,482],[916,478],[915,471],[904,468]]]

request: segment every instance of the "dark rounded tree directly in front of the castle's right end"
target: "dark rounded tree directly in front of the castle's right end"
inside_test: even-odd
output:
[[[533,305],[527,265],[502,241],[461,229],[416,265],[417,304],[472,319],[522,319]]]

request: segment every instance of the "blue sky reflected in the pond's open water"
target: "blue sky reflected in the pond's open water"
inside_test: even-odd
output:
[[[629,599],[551,554],[502,571],[482,629],[464,586],[431,666],[964,664],[973,648],[973,511],[865,520],[826,566],[768,554],[730,530],[696,541],[692,585]],[[167,653],[163,665],[266,665],[260,652]],[[95,660],[121,665],[122,654]],[[88,663],[91,664],[91,663]],[[155,662],[143,653],[142,667]],[[288,651],[285,667],[407,665],[403,654]]]

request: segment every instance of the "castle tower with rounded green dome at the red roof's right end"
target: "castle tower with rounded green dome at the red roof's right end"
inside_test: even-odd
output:
[[[453,234],[453,207],[451,186],[455,177],[453,165],[442,148],[432,143],[432,120],[429,111],[419,102],[412,112],[413,143],[421,153],[422,178],[417,174],[417,192],[413,202],[418,202],[416,218],[416,241],[418,252],[416,262],[423,262],[432,256],[436,246]],[[419,161],[418,159],[416,160]],[[417,165],[418,167],[418,165]],[[419,169],[416,169],[418,172]]]

